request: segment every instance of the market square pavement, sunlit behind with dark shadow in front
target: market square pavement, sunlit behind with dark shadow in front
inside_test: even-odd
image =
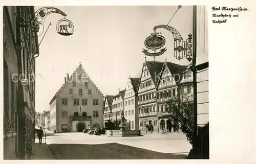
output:
[[[184,134],[111,137],[86,133],[49,133],[46,143],[58,150],[62,159],[181,159],[191,149]]]

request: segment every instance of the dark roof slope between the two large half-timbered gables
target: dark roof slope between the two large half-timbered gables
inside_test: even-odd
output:
[[[160,62],[160,61],[145,61],[145,64],[147,66],[148,72],[150,72],[150,76],[151,76],[151,78],[152,78],[152,80],[154,82],[154,85],[156,87],[159,79],[155,79],[155,76],[158,76],[158,74],[162,71],[164,62]]]

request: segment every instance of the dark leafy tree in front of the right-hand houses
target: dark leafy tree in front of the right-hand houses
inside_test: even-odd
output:
[[[193,97],[183,93],[180,98],[171,98],[168,104],[170,119],[179,123],[179,129],[186,135],[188,142],[192,145],[194,132]]]

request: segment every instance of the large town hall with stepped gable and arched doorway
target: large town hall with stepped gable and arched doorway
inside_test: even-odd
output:
[[[51,131],[82,132],[92,127],[103,127],[103,98],[79,64],[72,76],[67,74],[65,83],[51,100],[56,101],[56,129],[51,128]],[[54,110],[51,111],[53,115]]]

